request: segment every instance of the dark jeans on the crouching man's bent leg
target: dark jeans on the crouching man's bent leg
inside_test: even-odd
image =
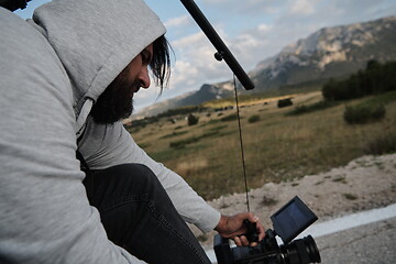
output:
[[[147,263],[210,263],[153,172],[141,164],[96,170],[84,180],[109,240]]]

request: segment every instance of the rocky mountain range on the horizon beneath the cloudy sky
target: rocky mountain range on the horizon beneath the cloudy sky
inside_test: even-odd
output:
[[[370,59],[396,61],[396,16],[321,29],[284,47],[249,73],[254,92],[312,81],[326,81],[364,68]],[[197,106],[233,95],[232,81],[206,84],[198,91],[144,109],[154,116],[172,108]],[[239,90],[244,92],[242,88]]]

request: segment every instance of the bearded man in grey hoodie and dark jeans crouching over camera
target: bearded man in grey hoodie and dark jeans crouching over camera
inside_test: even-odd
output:
[[[263,238],[119,121],[148,68],[168,77],[165,29],[142,0],[54,0],[28,22],[0,9],[0,263],[208,263],[185,221],[245,245],[248,219]]]

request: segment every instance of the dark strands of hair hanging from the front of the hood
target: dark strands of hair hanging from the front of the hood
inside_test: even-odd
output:
[[[164,86],[167,86],[170,77],[170,51],[172,47],[165,35],[160,36],[153,42],[153,57],[150,68],[155,84],[161,87],[161,92]]]

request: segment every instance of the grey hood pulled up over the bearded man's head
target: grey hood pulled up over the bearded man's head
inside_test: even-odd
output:
[[[79,127],[106,87],[165,34],[143,0],[53,0],[37,8],[30,22],[48,40],[68,74]]]

